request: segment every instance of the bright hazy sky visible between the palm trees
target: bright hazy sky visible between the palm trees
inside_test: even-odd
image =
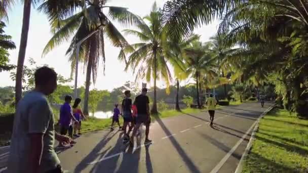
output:
[[[23,6],[18,1],[14,8],[9,12],[9,21],[6,22],[7,27],[5,32],[12,36],[12,40],[16,44],[16,49],[10,51],[10,63],[17,64],[18,50],[20,44],[20,33],[22,26],[22,13]],[[110,0],[107,5],[126,7],[129,11],[141,17],[149,14],[154,0]],[[157,0],[157,5],[163,7],[167,0]],[[114,22],[118,30],[122,31],[127,29],[121,24]],[[209,37],[215,35],[218,28],[218,21],[213,21],[210,25],[202,26],[195,30],[195,33],[201,35],[202,41],[208,41]],[[52,50],[45,57],[42,57],[42,52],[49,39],[52,37],[50,31],[50,25],[47,16],[44,13],[38,12],[34,7],[31,9],[30,27],[28,34],[28,42],[25,56],[25,65],[29,65],[29,58],[33,58],[37,65],[48,64],[53,67],[58,74],[64,77],[70,77],[70,62],[68,57],[65,56],[65,52],[69,46],[69,42],[63,42],[60,46]],[[133,44],[138,41],[138,38],[125,35],[125,38],[129,43]],[[134,81],[135,75],[131,70],[124,71],[125,63],[118,61],[120,49],[112,47],[110,41],[105,41],[105,55],[106,55],[106,67],[105,75],[103,75],[102,61],[99,66],[97,80],[95,85],[91,85],[91,88],[99,90],[111,91],[114,88],[122,86],[126,81]],[[78,86],[84,85],[86,79],[86,69],[83,64],[79,66]],[[137,83],[141,85],[142,80],[138,80]],[[144,81],[143,81],[144,82]],[[184,84],[187,81],[183,81]],[[173,82],[174,83],[174,82]],[[68,83],[73,85],[73,81]],[[152,83],[149,83],[151,85]],[[15,81],[11,80],[10,72],[0,73],[0,86],[14,86]],[[159,87],[164,87],[163,81],[158,81]]]

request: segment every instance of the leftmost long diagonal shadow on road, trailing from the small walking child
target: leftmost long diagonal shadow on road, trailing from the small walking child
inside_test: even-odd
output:
[[[104,155],[105,152],[99,153],[99,151],[106,146],[106,144],[116,135],[118,134],[119,131],[115,132],[111,136],[110,133],[108,132],[103,136],[103,139],[93,148],[93,150],[75,167],[74,172],[82,172],[87,166],[88,163],[94,161],[99,157],[100,155]]]

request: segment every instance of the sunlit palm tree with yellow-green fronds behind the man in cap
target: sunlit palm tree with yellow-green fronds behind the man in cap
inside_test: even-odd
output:
[[[161,77],[165,80],[167,89],[169,89],[171,73],[167,61],[172,61],[173,57],[166,56],[166,29],[162,23],[162,13],[157,8],[156,3],[153,4],[150,14],[144,19],[149,25],[142,21],[141,24],[137,25],[139,30],[124,30],[127,34],[138,36],[142,41],[132,45],[136,50],[129,56],[126,70],[131,67],[135,73],[137,69],[136,79],[145,77],[149,82],[151,77],[153,78],[154,99],[151,113],[156,114],[158,113],[156,82]],[[125,58],[121,55],[119,57],[122,60]]]

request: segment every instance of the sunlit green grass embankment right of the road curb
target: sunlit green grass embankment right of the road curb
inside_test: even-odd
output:
[[[307,127],[286,110],[265,115],[242,172],[308,172]]]

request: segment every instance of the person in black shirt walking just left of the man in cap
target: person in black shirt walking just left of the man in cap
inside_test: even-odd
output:
[[[131,92],[129,90],[125,91],[124,94],[125,94],[125,99],[123,99],[122,101],[122,113],[124,118],[123,129],[124,129],[125,139],[129,139],[129,135],[127,134],[127,125],[133,120],[132,99],[130,99]]]

